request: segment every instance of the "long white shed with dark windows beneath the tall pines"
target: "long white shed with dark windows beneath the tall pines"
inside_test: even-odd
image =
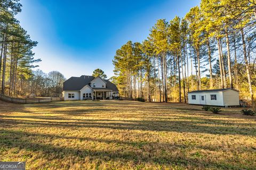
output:
[[[188,104],[239,106],[239,92],[234,89],[196,90],[188,93]]]

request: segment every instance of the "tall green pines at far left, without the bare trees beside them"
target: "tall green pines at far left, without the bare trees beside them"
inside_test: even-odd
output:
[[[21,12],[18,0],[0,2],[0,80],[1,94],[13,96],[17,93],[19,79],[27,80],[32,75],[36,62],[32,48],[37,45],[30,39],[15,15]]]

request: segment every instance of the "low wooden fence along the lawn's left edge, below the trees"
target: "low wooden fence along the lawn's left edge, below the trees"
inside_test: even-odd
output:
[[[0,95],[0,99],[11,103],[50,103],[52,101],[62,101],[62,97],[29,97],[29,98],[18,98]]]

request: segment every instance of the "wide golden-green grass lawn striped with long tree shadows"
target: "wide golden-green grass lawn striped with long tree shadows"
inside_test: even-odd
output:
[[[137,101],[0,101],[0,161],[27,169],[255,169],[255,116]]]

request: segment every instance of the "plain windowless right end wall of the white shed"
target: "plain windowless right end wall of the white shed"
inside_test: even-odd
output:
[[[239,92],[235,90],[223,91],[224,106],[239,106]]]

